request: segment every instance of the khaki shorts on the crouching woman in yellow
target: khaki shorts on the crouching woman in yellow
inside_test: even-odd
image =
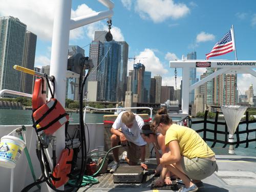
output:
[[[211,161],[205,158],[193,158],[181,156],[181,166],[185,174],[194,180],[202,180],[212,175],[215,171],[218,172],[216,161]]]

